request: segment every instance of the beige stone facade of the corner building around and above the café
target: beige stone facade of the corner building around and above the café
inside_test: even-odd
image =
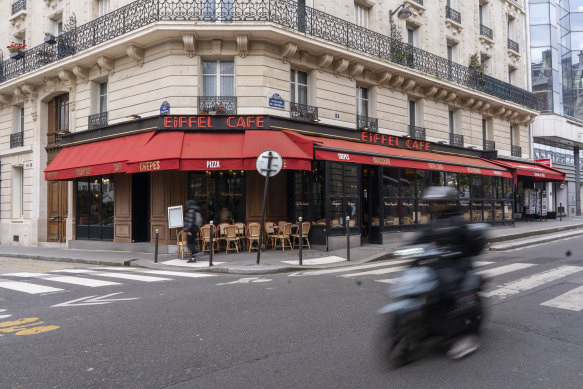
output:
[[[406,135],[410,124],[409,102],[415,101],[418,110],[415,125],[425,128],[429,141],[450,142],[449,111],[453,111],[454,133],[463,135],[463,147],[484,147],[482,120],[485,119],[487,138],[495,141],[499,155],[511,156],[511,143],[514,142],[512,145],[521,147],[522,158],[530,157],[528,126],[537,115],[532,107],[519,100],[503,99],[388,61],[334,39],[313,37],[302,31],[301,23],[290,27],[277,20],[255,22],[252,17],[233,22],[201,17],[193,22],[184,20],[188,16],[177,17],[179,12],[172,5],[193,4],[179,0],[45,0],[31,3],[27,1],[25,10],[15,15],[11,14],[8,2],[0,7],[0,18],[10,20],[0,25],[1,35],[14,37],[8,41],[25,40],[30,52],[44,45],[53,50],[52,55],[55,49],[65,53],[64,44],[43,43],[45,32],[56,35],[59,31],[75,31],[75,27],[79,29],[86,23],[102,22],[93,30],[98,35],[96,39],[99,38],[95,44],[73,55],[54,57],[30,70],[15,71],[14,66],[22,66],[27,57],[10,59],[6,48],[2,49],[7,69],[11,70],[5,72],[0,82],[1,244],[37,245],[51,240],[47,232],[49,189],[43,174],[48,158],[46,147],[51,142],[47,124],[53,120],[49,112],[51,101],[68,94],[67,130],[71,132],[87,130],[89,117],[100,112],[100,84],[104,83],[107,84],[108,125],[126,122],[130,114],[158,115],[162,101],[170,103],[173,114],[200,114],[197,101],[204,94],[203,60],[234,61],[239,115],[289,117],[290,71],[296,70],[308,76],[307,104],[318,108],[322,124],[355,129],[355,96],[360,86],[368,90],[368,116],[378,119],[381,133]],[[208,2],[197,0],[194,3]],[[223,3],[247,1],[210,3],[225,6]],[[298,12],[295,2],[271,0],[263,3],[278,4],[281,14],[291,12],[286,11],[286,7]],[[512,84],[528,89],[525,9],[521,1],[452,1],[452,8],[461,14],[461,23],[446,18],[445,3],[445,0],[405,0],[412,16],[408,20],[394,16],[403,39],[407,41],[408,34],[412,34],[414,46],[423,50],[428,58],[430,55],[447,58],[449,45],[453,61],[464,67],[468,66],[472,54],[478,54],[488,61],[487,73],[491,77],[507,83],[512,73]],[[365,12],[366,27],[386,36],[390,31],[389,10],[396,9],[399,4],[401,1],[397,0],[313,0],[306,2],[306,14],[324,12],[339,18],[330,19],[328,27],[333,38],[345,28],[343,23],[358,21],[355,12]],[[152,19],[140,26],[137,22],[133,26],[129,17],[108,21],[108,17],[121,12],[121,7],[126,5],[132,9],[128,15],[152,16],[166,10],[173,17]],[[100,11],[105,14],[97,19]],[[480,34],[480,12],[483,25],[493,30],[492,39]],[[74,23],[72,15],[76,18]],[[309,24],[310,19],[307,20],[305,23]],[[120,33],[119,23],[127,23],[126,32]],[[103,37],[114,27],[111,38]],[[508,49],[509,37],[518,43],[518,52]],[[76,36],[76,39],[86,43],[89,38]],[[21,65],[15,65],[17,61],[21,61]],[[440,66],[436,64],[436,68]],[[276,93],[285,100],[285,110],[269,107],[269,98]],[[20,108],[24,108],[22,129],[19,128]],[[515,131],[514,140],[511,140],[511,126]],[[21,144],[11,145],[11,134],[21,130],[24,135]],[[16,188],[17,185],[21,188]],[[66,207],[70,210],[74,207],[72,193],[69,184]],[[71,223],[69,218],[65,240],[72,238]]]

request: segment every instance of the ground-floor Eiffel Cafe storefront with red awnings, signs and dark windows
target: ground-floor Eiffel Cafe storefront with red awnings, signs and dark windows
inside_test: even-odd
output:
[[[275,116],[166,115],[65,135],[45,170],[49,181],[73,181],[72,247],[177,242],[170,206],[193,199],[205,223],[261,219],[264,178],[256,158],[277,151],[283,169],[270,179],[266,219],[310,222],[313,247],[345,245],[345,220],[361,242],[429,223],[428,186],[455,187],[463,217],[510,223],[521,212],[518,184],[562,181],[556,169],[504,161],[496,151]],[[519,165],[519,166],[518,166]]]

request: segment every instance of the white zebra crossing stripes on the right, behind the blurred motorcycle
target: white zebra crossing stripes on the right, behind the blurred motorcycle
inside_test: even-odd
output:
[[[410,260],[392,260],[352,267],[306,271],[294,276],[332,275],[345,279],[369,279],[375,282],[393,284],[399,279],[399,272],[407,268]],[[505,299],[532,291],[545,285],[555,285],[569,276],[583,275],[583,266],[555,266],[516,262],[497,264],[490,261],[474,261],[477,272],[489,282],[482,296],[486,298]],[[528,273],[528,274],[525,274]],[[390,275],[390,278],[385,278]],[[502,279],[504,282],[498,283]],[[580,283],[579,283],[580,285]],[[566,293],[555,296],[540,303],[545,307],[583,311],[583,286],[576,287]]]

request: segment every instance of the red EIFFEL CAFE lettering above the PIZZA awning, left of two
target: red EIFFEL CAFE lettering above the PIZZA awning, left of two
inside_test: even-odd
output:
[[[160,128],[166,130],[254,130],[265,128],[265,116],[162,116]]]

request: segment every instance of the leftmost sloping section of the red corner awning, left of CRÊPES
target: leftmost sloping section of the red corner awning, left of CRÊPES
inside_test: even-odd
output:
[[[128,154],[152,136],[149,132],[65,147],[45,169],[45,179],[68,180],[124,172]]]

